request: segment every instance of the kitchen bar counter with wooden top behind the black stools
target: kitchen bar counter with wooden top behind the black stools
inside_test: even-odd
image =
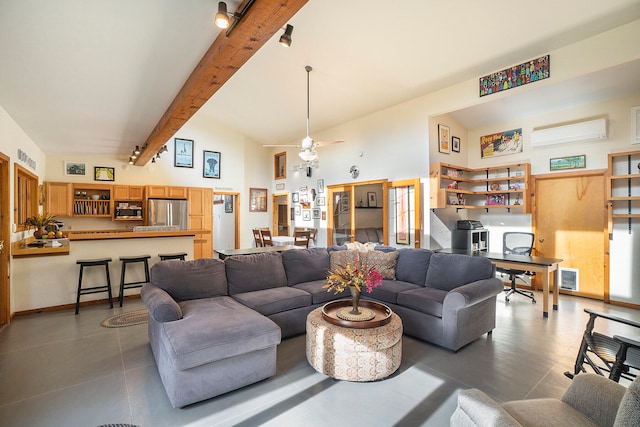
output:
[[[11,245],[13,265],[12,311],[29,313],[51,308],[73,307],[78,288],[80,259],[111,257],[109,274],[113,297],[118,296],[121,256],[151,255],[149,267],[160,261],[159,253],[186,252],[193,259],[194,237],[201,230],[181,231],[72,231],[69,239],[60,240],[61,247],[34,248],[27,246],[33,238]],[[142,268],[129,266],[127,281],[143,280]],[[104,269],[85,270],[83,286],[104,285]],[[128,289],[125,295],[140,293]],[[106,298],[106,294],[84,295],[81,302]],[[126,301],[125,301],[126,305]],[[104,304],[105,310],[109,305]]]

